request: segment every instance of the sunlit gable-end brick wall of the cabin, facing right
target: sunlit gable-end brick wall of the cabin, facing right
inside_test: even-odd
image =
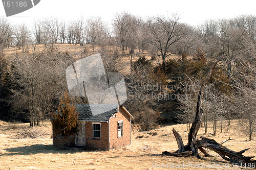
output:
[[[123,120],[123,136],[117,136],[117,123]],[[110,118],[110,149],[118,148],[124,145],[131,144],[130,133],[130,115],[127,114],[123,108],[120,107],[120,111],[116,113],[116,118]]]

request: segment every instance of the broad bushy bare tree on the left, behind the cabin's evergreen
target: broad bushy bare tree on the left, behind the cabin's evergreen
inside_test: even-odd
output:
[[[69,61],[67,54],[51,47],[39,54],[17,54],[10,61],[13,111],[25,114],[31,126],[39,125],[56,109],[67,88],[65,69]]]

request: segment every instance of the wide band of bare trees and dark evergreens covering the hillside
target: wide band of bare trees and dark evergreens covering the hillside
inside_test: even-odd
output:
[[[79,44],[83,50],[60,52],[56,43]],[[39,44],[44,44],[44,51],[36,50]],[[5,48],[13,46],[22,52],[7,58]],[[143,19],[122,12],[115,15],[112,28],[100,17],[70,22],[50,17],[34,21],[32,30],[0,18],[0,118],[39,125],[56,110],[67,89],[66,67],[100,53],[111,72],[126,69],[122,59],[129,56],[125,105],[134,123],[152,129],[161,120],[160,112],[167,112],[190,126],[206,71],[223,56],[206,86],[202,126],[207,133],[210,123],[215,135],[217,125],[221,132],[228,131],[230,120],[236,118],[251,140],[256,129],[255,47],[256,16],[252,15],[207,20],[192,27],[180,22],[177,14]]]

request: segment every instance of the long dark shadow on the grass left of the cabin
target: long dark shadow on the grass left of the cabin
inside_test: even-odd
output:
[[[82,148],[60,149],[52,144],[33,144],[25,147],[7,148],[4,149],[7,153],[2,155],[31,155],[31,154],[72,154],[78,152],[96,152],[99,150],[84,150]],[[0,155],[1,156],[1,155]]]

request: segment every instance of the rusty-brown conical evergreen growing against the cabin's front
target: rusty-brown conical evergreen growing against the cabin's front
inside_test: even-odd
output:
[[[65,137],[74,132],[78,122],[78,113],[67,91],[60,98],[58,110],[53,113],[51,122],[53,128]]]

